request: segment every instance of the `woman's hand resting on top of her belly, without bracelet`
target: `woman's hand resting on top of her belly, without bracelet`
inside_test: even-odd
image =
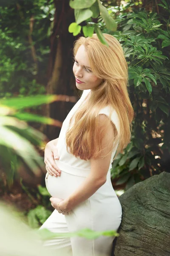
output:
[[[61,170],[55,163],[55,160],[59,159],[58,150],[56,145],[54,145],[53,141],[49,141],[45,146],[44,151],[44,163],[45,169],[51,176],[60,176]]]

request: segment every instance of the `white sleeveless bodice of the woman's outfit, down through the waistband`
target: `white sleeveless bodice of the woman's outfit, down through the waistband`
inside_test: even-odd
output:
[[[59,133],[59,138],[57,141],[57,150],[59,155],[59,160],[55,160],[57,166],[61,171],[68,172],[72,175],[87,177],[91,170],[91,162],[90,160],[82,160],[80,157],[75,157],[73,154],[70,154],[66,150],[66,143],[65,143],[65,133],[69,127],[69,122],[75,111],[79,108],[79,106],[84,102],[85,97],[88,95],[88,93],[91,92],[91,89],[89,90],[83,90],[81,98],[78,100],[78,102],[74,105],[74,107],[71,109],[71,111],[68,113],[67,117],[65,118],[64,122],[62,123],[62,128]],[[109,117],[109,111],[112,111],[111,114],[111,121],[116,126],[116,129],[119,133],[119,118],[117,116],[116,111],[110,107],[106,106],[105,108],[102,108],[99,111],[99,114],[104,113]],[[117,144],[118,146],[118,144]],[[116,146],[116,149],[117,149]],[[69,149],[69,148],[68,148]],[[112,151],[111,154],[111,162],[109,166],[109,170],[112,168],[112,162],[113,157],[116,153],[116,149]]]

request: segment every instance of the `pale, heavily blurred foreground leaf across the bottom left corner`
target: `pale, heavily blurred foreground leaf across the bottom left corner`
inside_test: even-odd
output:
[[[0,255],[2,256],[71,256],[66,248],[52,249],[43,246],[43,241],[54,237],[80,236],[96,239],[99,236],[119,236],[114,230],[95,232],[89,229],[74,233],[52,233],[49,230],[33,230],[25,224],[12,207],[0,203]],[[61,254],[62,253],[62,254]],[[98,256],[98,255],[96,255]],[[102,255],[100,255],[102,256]]]

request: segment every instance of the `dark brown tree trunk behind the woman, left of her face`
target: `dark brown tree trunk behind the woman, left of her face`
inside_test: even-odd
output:
[[[51,35],[51,54],[49,60],[47,94],[65,95],[64,99],[46,105],[46,116],[61,122],[77,102],[75,95],[75,79],[73,67],[73,44],[75,37],[68,32],[68,26],[74,22],[74,10],[69,0],[55,0],[54,28]],[[71,100],[72,99],[72,100]],[[59,136],[61,127],[45,125],[44,133],[50,140]]]

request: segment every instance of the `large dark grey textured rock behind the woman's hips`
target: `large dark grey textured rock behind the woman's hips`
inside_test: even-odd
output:
[[[135,184],[119,197],[122,223],[114,256],[170,256],[170,173]]]

